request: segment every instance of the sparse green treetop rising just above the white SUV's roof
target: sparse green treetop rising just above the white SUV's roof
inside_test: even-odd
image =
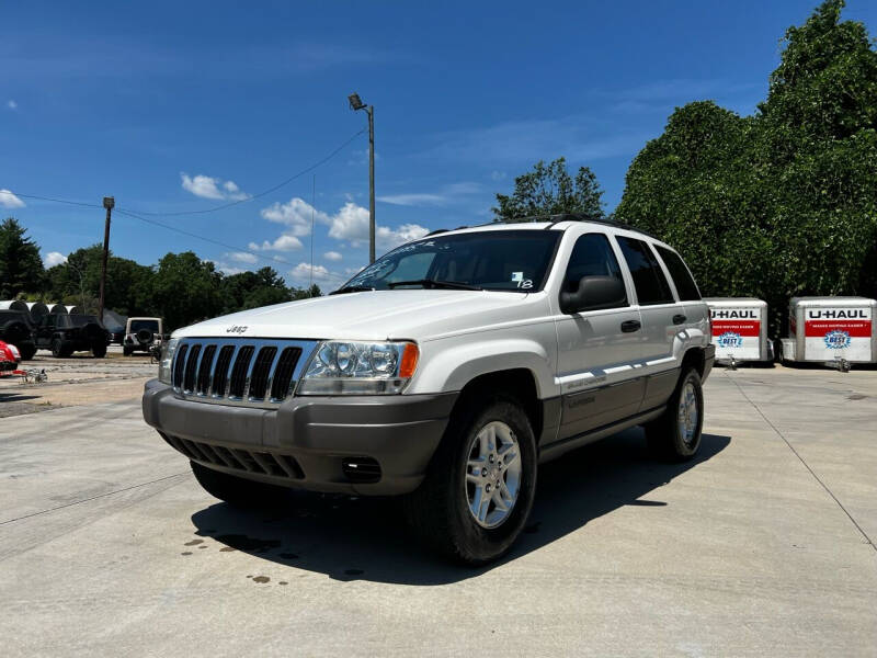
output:
[[[493,211],[496,222],[513,222],[534,215],[576,213],[584,219],[602,219],[603,191],[588,167],[580,167],[573,179],[567,169],[566,158],[546,164],[536,162],[533,171],[514,179],[511,196],[497,194]]]

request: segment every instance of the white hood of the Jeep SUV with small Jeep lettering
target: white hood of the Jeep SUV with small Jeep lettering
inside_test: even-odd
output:
[[[545,315],[544,293],[371,291],[243,310],[173,336],[426,341]]]

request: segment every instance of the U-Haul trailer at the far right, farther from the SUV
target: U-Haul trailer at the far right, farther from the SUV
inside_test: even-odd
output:
[[[867,297],[793,297],[784,361],[877,363],[877,300]]]

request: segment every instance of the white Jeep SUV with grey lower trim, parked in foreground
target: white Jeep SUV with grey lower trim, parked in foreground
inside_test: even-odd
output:
[[[146,421],[229,503],[277,486],[402,495],[433,546],[496,559],[539,462],[635,424],[692,457],[714,361],[675,251],[548,219],[434,231],[328,297],[175,331]]]

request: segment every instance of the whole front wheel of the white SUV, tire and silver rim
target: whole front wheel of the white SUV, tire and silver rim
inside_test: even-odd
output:
[[[536,442],[520,405],[497,397],[455,412],[423,484],[405,499],[409,524],[445,555],[482,565],[526,523],[536,491]]]

